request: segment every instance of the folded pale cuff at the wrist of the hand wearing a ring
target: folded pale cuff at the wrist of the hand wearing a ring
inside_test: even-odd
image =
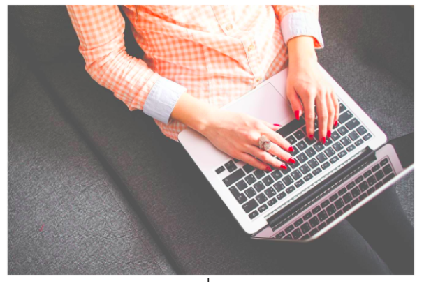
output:
[[[163,123],[168,123],[178,99],[187,89],[166,77],[159,77],[148,93],[143,112]]]

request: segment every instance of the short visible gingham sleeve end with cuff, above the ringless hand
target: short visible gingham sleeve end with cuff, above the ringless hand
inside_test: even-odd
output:
[[[284,43],[297,36],[312,36],[314,47],[324,46],[319,24],[319,6],[273,5],[280,20]]]

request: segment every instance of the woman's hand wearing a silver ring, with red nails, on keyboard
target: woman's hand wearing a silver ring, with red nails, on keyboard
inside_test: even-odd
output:
[[[270,166],[286,169],[285,163],[295,163],[288,153],[293,151],[293,147],[282,135],[275,132],[278,128],[278,125],[247,114],[212,110],[205,116],[205,121],[198,128],[198,132],[229,156],[258,169],[270,171],[272,170]],[[268,152],[259,149],[258,140],[261,135],[265,135],[272,142]]]

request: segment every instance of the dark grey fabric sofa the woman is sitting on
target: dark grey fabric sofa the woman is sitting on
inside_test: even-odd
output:
[[[319,18],[321,66],[389,140],[411,133],[414,10]],[[127,19],[124,33],[142,57]],[[78,45],[65,6],[8,6],[9,274],[309,273],[286,243],[249,239],[182,146],[89,77]],[[414,173],[395,190],[414,225]]]

